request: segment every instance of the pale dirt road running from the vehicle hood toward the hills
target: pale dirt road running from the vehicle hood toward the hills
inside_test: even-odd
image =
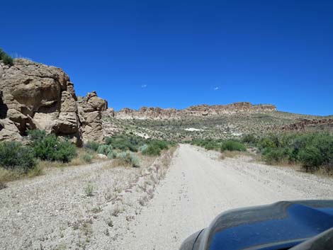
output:
[[[220,212],[278,200],[333,198],[333,181],[295,169],[214,159],[215,153],[181,145],[150,205],[115,249],[172,250],[207,227]]]

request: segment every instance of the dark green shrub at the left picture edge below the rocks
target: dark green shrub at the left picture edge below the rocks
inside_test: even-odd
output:
[[[19,142],[0,143],[0,166],[4,169],[28,172],[36,165],[33,149]]]

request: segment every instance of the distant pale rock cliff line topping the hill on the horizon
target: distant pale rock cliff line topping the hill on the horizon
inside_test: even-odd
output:
[[[152,119],[168,120],[181,119],[189,117],[212,117],[218,115],[231,115],[235,113],[265,113],[276,111],[276,106],[271,104],[253,105],[249,102],[231,103],[227,105],[199,105],[191,106],[183,110],[175,108],[147,108],[142,107],[139,110],[123,108],[115,112],[115,118],[118,119]]]

